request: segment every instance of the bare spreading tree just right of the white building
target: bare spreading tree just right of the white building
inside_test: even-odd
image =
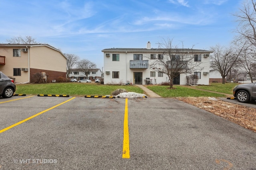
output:
[[[237,47],[239,48],[222,47],[220,45],[210,47],[211,51],[213,51],[210,58],[210,66],[213,70],[220,72],[220,75],[222,76],[222,84],[225,84],[225,77],[233,68],[240,53],[244,49],[244,45]]]

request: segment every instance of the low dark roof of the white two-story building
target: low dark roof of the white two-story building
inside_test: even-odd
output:
[[[200,49],[171,49],[173,51],[184,51],[184,52],[193,52],[193,53],[213,53],[213,51],[200,50]],[[111,48],[103,49],[102,52],[166,52],[166,49],[138,49],[138,48]]]

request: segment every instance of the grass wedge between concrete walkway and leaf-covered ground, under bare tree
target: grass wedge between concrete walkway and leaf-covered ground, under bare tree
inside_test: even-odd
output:
[[[174,86],[174,89],[168,89],[169,86],[146,86],[156,94],[164,98],[172,97],[226,97],[222,94],[216,94],[214,92],[205,92],[202,90],[195,90],[184,86]]]

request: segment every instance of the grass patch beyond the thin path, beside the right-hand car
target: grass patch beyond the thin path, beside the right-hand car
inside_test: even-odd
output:
[[[233,94],[233,88],[238,85],[238,83],[210,83],[209,86],[195,86],[196,88],[199,89],[204,89],[204,90],[210,90],[213,92],[220,92],[220,93],[225,93],[225,94]]]

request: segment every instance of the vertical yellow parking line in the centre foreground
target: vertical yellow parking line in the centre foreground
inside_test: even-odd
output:
[[[130,158],[129,128],[128,128],[128,98],[125,99],[125,109],[124,109],[124,141],[123,141],[123,155],[122,155],[122,158]]]

